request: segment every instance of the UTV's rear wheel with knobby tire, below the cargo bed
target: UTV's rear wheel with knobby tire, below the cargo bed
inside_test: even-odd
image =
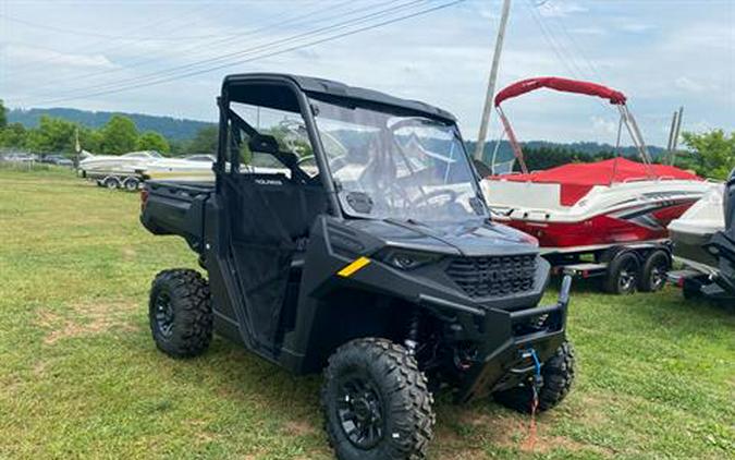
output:
[[[198,271],[163,270],[150,288],[148,317],[154,341],[173,358],[204,353],[212,338],[209,285]]]

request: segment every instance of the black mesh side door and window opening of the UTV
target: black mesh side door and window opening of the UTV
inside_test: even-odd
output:
[[[294,90],[248,83],[229,96],[218,181],[242,300],[234,306],[249,322],[241,327],[253,336],[245,342],[278,359],[294,320],[309,228],[327,209],[326,194],[318,178],[298,168],[313,149]]]

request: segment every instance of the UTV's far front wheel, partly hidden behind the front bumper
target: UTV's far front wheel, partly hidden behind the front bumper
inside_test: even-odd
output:
[[[556,407],[572,389],[574,383],[574,347],[564,342],[553,356],[541,367],[543,386],[539,390],[537,411],[543,412]],[[495,401],[519,412],[530,413],[534,390],[529,385],[518,386],[492,395]]]

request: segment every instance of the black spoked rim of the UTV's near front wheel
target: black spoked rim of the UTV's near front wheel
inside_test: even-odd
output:
[[[380,394],[365,376],[350,376],[339,384],[336,416],[345,436],[355,447],[370,449],[385,433]]]

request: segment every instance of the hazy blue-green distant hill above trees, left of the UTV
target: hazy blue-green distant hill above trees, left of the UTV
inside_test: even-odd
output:
[[[156,131],[174,141],[186,141],[194,137],[201,128],[211,125],[206,121],[177,119],[172,117],[156,117],[142,113],[93,112],[77,109],[10,109],[8,121],[21,123],[26,128],[35,128],[41,116],[63,118],[89,128],[99,128],[107,123],[113,114],[130,117],[139,131]]]

